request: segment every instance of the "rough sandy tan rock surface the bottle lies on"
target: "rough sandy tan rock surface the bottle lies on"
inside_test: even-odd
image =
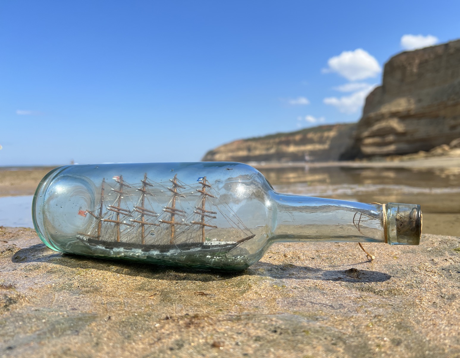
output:
[[[2,357],[455,357],[460,238],[290,243],[235,274],[65,255],[0,228]]]

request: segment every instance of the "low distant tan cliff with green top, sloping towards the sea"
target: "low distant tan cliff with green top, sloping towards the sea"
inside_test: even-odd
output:
[[[292,133],[236,140],[208,151],[202,161],[310,161],[337,160],[351,145],[356,123],[323,125]]]

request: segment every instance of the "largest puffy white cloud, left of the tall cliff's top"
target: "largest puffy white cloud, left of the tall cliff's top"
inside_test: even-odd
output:
[[[363,49],[344,51],[339,56],[331,57],[328,65],[328,68],[322,69],[322,73],[336,72],[350,81],[375,77],[381,71],[375,57]]]

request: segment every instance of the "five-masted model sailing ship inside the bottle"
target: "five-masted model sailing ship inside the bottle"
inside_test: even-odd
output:
[[[216,253],[228,252],[255,236],[206,177],[191,185],[181,182],[177,174],[169,183],[153,182],[147,173],[138,185],[125,182],[123,176],[112,179],[115,185],[103,179],[96,208],[78,212],[92,217],[77,235],[86,245],[128,256],[130,252],[153,256]],[[218,216],[228,223],[220,231],[214,223]]]

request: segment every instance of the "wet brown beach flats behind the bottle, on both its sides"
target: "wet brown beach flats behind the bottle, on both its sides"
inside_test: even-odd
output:
[[[460,236],[458,157],[308,165],[265,163],[256,165],[256,168],[281,193],[361,202],[420,204],[424,213],[424,233]],[[0,197],[33,195],[40,180],[51,169],[0,168]]]

